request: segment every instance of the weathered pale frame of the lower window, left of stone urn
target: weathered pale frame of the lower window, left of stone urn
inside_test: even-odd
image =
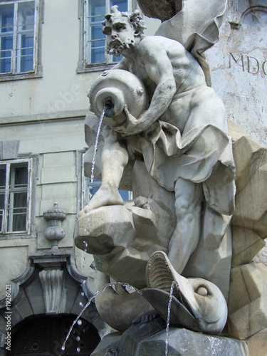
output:
[[[0,159],[0,165],[6,165],[6,183],[5,183],[5,197],[4,197],[4,214],[2,226],[0,226],[0,240],[2,239],[21,239],[28,237],[36,237],[35,229],[35,192],[36,192],[36,174],[37,172],[38,156],[31,155],[31,157],[21,157],[18,159]],[[23,231],[8,231],[8,214],[9,209],[9,182],[11,167],[16,165],[28,165],[28,182],[27,182],[27,200],[26,200],[26,230]],[[4,229],[3,228],[4,225]]]

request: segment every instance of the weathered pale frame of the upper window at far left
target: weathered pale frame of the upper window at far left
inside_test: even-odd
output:
[[[27,2],[31,0],[0,0],[0,6],[4,4],[14,4],[14,16],[17,13],[19,3]],[[0,82],[6,80],[19,80],[19,79],[31,79],[31,78],[41,78],[43,76],[43,67],[41,65],[41,23],[43,23],[43,0],[33,0],[34,1],[34,29],[33,29],[33,70],[28,70],[25,72],[16,72],[16,41],[18,38],[17,27],[18,22],[14,24],[13,31],[13,45],[11,54],[11,72],[0,73]]]

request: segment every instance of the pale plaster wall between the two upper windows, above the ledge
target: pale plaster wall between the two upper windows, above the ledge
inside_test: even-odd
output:
[[[78,1],[44,1],[43,78],[0,83],[0,117],[88,110],[87,90],[98,73],[77,74],[80,21]],[[73,115],[74,116],[74,115]]]

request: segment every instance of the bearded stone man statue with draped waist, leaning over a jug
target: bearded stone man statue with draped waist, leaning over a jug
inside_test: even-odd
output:
[[[233,211],[234,162],[224,105],[181,43],[144,35],[138,11],[121,13],[112,6],[103,25],[108,53],[123,56],[113,68],[142,80],[150,105],[140,117],[125,105],[125,122],[103,127],[102,184],[84,211],[122,204],[117,189],[128,162],[127,145],[133,147],[151,177],[175,194],[177,226],[168,257],[182,273],[199,242],[203,201],[216,213]]]

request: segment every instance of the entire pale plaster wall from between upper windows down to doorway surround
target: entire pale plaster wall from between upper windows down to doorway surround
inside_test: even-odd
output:
[[[67,213],[62,223],[61,251],[72,253],[79,273],[90,275],[92,257],[73,248],[77,214],[76,151],[86,147],[84,117],[88,112],[90,78],[77,74],[80,23],[78,1],[44,1],[41,36],[43,78],[0,83],[0,142],[19,140],[19,154],[38,155],[36,179],[36,239],[0,241],[0,295],[11,279],[26,271],[27,256],[51,248],[43,212],[53,203]],[[20,246],[20,248],[18,248]],[[11,263],[16,261],[16,263]]]

